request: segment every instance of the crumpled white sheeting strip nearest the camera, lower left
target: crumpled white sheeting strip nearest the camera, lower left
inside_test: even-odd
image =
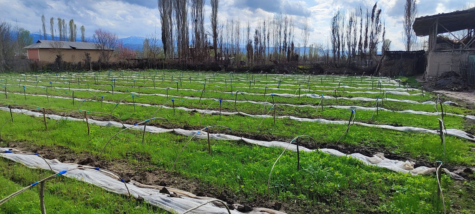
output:
[[[10,148],[0,148],[0,151],[6,151]],[[13,150],[13,149],[12,149]],[[63,170],[76,168],[79,165],[73,163],[61,163],[57,159],[46,159],[49,165],[39,156],[25,155],[16,153],[0,153],[0,156],[10,159],[15,162],[19,162],[29,168],[41,168],[50,170],[49,166],[55,173]],[[83,165],[84,166],[84,165]],[[160,207],[171,213],[180,214],[186,210],[198,206],[201,203],[207,202],[211,197],[199,197],[189,192],[166,187],[171,194],[178,194],[180,197],[170,197],[170,195],[160,193],[163,186],[148,186],[142,185],[136,181],[131,180],[129,183],[124,184],[118,177],[113,177],[110,174],[102,173],[96,169],[85,168],[82,170],[71,170],[63,174],[66,177],[74,178],[76,180],[84,181],[89,184],[99,186],[107,191],[117,194],[128,195],[128,192],[135,198],[142,198],[145,202],[154,206]],[[125,187],[127,185],[127,188]],[[150,188],[152,187],[152,188]],[[230,207],[237,208],[239,204],[228,205]],[[242,205],[241,205],[242,206]],[[190,214],[228,214],[226,208],[220,203],[209,203],[203,205],[193,211]],[[242,213],[237,210],[231,210],[231,214],[285,214],[276,210],[266,208],[252,208],[250,212]]]

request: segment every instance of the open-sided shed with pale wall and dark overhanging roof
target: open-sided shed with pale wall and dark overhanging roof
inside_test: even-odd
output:
[[[417,36],[429,36],[426,78],[455,71],[467,79],[475,71],[475,8],[416,18],[412,25]],[[446,34],[444,36],[439,34]]]

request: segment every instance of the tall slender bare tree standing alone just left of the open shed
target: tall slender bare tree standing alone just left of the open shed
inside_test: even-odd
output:
[[[416,0],[406,0],[404,5],[404,18],[402,26],[404,28],[402,34],[402,40],[406,45],[406,51],[410,51],[416,46],[416,33],[412,30],[412,23],[416,20],[418,16],[418,9]]]

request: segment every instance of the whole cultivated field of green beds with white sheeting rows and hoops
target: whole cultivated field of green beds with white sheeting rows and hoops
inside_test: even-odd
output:
[[[210,198],[236,214],[475,212],[475,110],[412,78],[151,69],[2,74],[0,85],[2,151],[120,176],[48,181],[47,213],[182,213]],[[2,198],[52,174],[39,156],[0,155]],[[39,213],[38,189],[5,211]]]

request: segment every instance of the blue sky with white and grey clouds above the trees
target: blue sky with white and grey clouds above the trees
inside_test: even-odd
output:
[[[259,18],[283,12],[294,16],[296,43],[300,39],[302,19],[309,17],[312,33],[309,43],[324,43],[330,34],[330,19],[338,9],[351,10],[361,5],[371,8],[376,0],[219,0],[218,18],[239,18],[251,26]],[[383,9],[391,49],[403,49],[402,13],[405,0],[379,0]],[[460,10],[475,0],[418,0],[419,16]],[[206,17],[209,17],[209,0],[206,0]],[[41,29],[41,15],[47,18],[74,19],[84,25],[91,36],[94,29],[103,28],[117,33],[119,38],[145,36],[160,32],[159,11],[156,0],[0,0],[0,20],[18,22],[30,31]],[[206,20],[209,25],[209,20]],[[49,27],[47,27],[49,30]],[[79,31],[79,30],[78,30]]]

